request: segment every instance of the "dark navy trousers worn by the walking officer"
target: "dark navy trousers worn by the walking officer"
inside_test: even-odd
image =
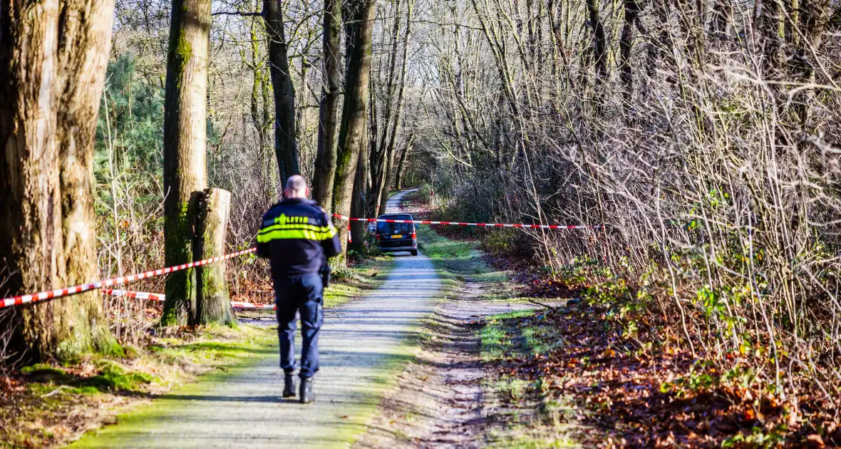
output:
[[[295,371],[295,312],[301,314],[301,378],[318,372],[318,335],[324,320],[324,301],[320,274],[285,277],[274,280],[275,304],[278,304],[280,367],[286,374]]]

